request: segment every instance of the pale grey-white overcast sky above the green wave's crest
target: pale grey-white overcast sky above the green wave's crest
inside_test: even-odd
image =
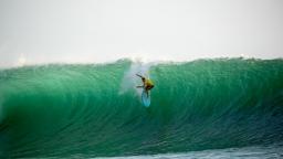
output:
[[[283,0],[0,0],[0,66],[283,57]]]

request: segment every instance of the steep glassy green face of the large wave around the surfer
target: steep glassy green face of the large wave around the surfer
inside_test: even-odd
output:
[[[0,71],[0,155],[132,156],[283,141],[282,60],[155,64],[149,108],[134,87],[120,93],[133,64]]]

